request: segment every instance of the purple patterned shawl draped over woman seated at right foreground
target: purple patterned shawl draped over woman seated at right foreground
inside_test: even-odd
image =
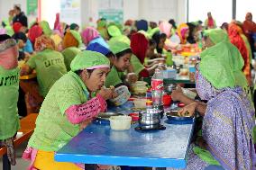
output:
[[[254,109],[241,87],[215,89],[200,72],[197,93],[207,100],[203,138],[207,149],[228,170],[255,169],[251,137]]]

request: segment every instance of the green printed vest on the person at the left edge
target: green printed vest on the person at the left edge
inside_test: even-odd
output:
[[[19,68],[0,67],[0,140],[14,137],[20,129],[18,116]]]

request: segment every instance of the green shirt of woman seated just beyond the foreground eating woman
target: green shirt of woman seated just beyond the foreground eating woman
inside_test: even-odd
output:
[[[118,85],[123,83],[122,81],[123,72],[118,72],[113,66],[109,74],[105,78],[105,86],[108,88],[110,85]]]

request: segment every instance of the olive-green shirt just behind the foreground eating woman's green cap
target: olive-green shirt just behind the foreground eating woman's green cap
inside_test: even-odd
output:
[[[70,63],[71,61],[78,55],[78,52],[81,50],[77,47],[69,47],[67,49],[62,50],[62,55],[64,57],[64,62],[67,67],[67,71],[70,71]]]

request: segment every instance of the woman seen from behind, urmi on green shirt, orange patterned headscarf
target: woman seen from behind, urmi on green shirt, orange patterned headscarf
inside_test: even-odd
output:
[[[40,94],[45,97],[50,87],[67,73],[67,68],[62,54],[55,50],[55,44],[49,37],[42,35],[37,38],[34,48],[37,54],[22,68],[22,75],[28,75],[35,69]]]

